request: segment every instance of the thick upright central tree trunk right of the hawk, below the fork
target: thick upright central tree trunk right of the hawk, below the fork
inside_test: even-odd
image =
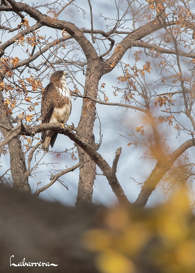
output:
[[[85,90],[84,95],[97,97],[97,90],[101,73],[97,66],[88,67],[86,70]],[[77,134],[84,142],[95,147],[95,140],[93,137],[93,127],[95,121],[96,103],[90,99],[83,99],[82,111],[80,121],[77,127]],[[79,184],[76,202],[92,201],[93,184],[96,175],[96,164],[91,158],[78,147],[79,155]]]

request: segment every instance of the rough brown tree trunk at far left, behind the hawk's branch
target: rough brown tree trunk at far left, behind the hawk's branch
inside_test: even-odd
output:
[[[3,124],[9,128],[13,128],[12,123],[10,122],[9,117],[5,115],[5,108],[4,108],[4,99],[3,94],[0,91],[0,124]],[[4,137],[7,136],[9,131],[4,129],[1,130]],[[11,176],[13,179],[13,184],[16,187],[19,187],[23,190],[30,191],[30,185],[28,183],[28,177],[26,176],[26,164],[25,164],[25,157],[22,151],[21,142],[19,137],[16,137],[14,140],[8,143],[9,147],[9,154],[10,154],[10,170]]]

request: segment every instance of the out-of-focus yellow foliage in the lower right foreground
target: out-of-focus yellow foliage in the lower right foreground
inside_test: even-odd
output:
[[[116,206],[83,235],[101,273],[194,273],[195,217],[186,188],[155,208]]]

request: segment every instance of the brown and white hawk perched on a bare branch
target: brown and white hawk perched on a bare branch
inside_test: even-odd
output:
[[[50,82],[43,91],[41,99],[42,123],[66,123],[69,119],[72,104],[70,91],[66,84],[66,72],[59,70],[50,77]],[[42,150],[48,152],[49,145],[53,148],[58,133],[47,130],[41,133]]]

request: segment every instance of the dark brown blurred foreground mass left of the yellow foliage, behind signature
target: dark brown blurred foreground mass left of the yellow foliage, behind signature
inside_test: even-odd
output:
[[[95,209],[50,203],[17,189],[0,186],[0,272],[96,272],[93,254],[80,236],[94,224]],[[54,266],[18,266],[49,262]]]

